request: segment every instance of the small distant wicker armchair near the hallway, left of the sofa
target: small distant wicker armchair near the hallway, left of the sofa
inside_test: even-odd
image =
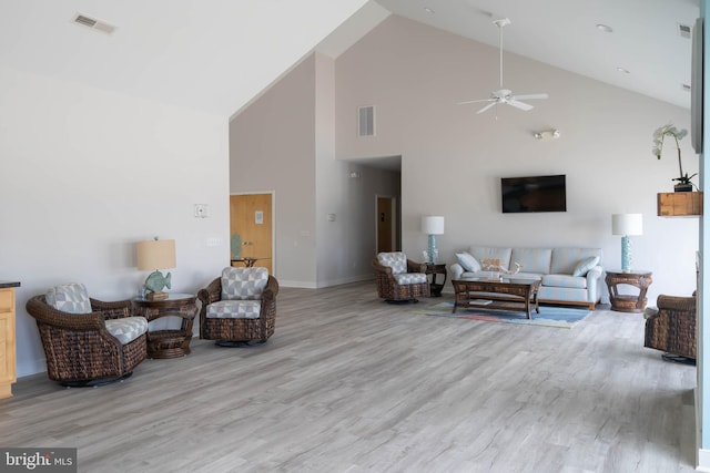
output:
[[[387,302],[413,301],[429,297],[426,265],[408,259],[402,251],[379,253],[373,259],[377,296]]]

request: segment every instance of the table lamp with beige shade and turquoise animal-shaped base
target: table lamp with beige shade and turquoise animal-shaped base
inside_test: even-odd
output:
[[[163,288],[170,289],[170,273],[165,276],[159,269],[175,267],[175,240],[155,239],[139,241],[135,246],[138,255],[138,269],[145,271],[153,269],[143,287],[148,300],[168,299],[168,292]]]

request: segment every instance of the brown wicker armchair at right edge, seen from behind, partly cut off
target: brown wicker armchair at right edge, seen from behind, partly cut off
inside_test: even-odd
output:
[[[658,296],[658,311],[646,311],[643,346],[662,350],[663,359],[693,362],[698,352],[696,296]]]

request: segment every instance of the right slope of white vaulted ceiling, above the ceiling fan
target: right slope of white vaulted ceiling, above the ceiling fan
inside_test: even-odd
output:
[[[679,24],[694,24],[698,0],[377,1],[394,13],[496,47],[493,20],[509,18],[506,51],[690,107],[683,84],[690,85],[692,42],[679,34]]]

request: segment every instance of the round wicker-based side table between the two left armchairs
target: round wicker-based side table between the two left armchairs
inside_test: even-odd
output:
[[[148,300],[133,299],[135,315],[142,316],[148,321],[162,317],[180,317],[179,329],[149,330],[148,331],[148,358],[178,358],[190,354],[190,340],[192,340],[192,323],[197,315],[197,296],[193,294],[169,292],[166,299]]]

